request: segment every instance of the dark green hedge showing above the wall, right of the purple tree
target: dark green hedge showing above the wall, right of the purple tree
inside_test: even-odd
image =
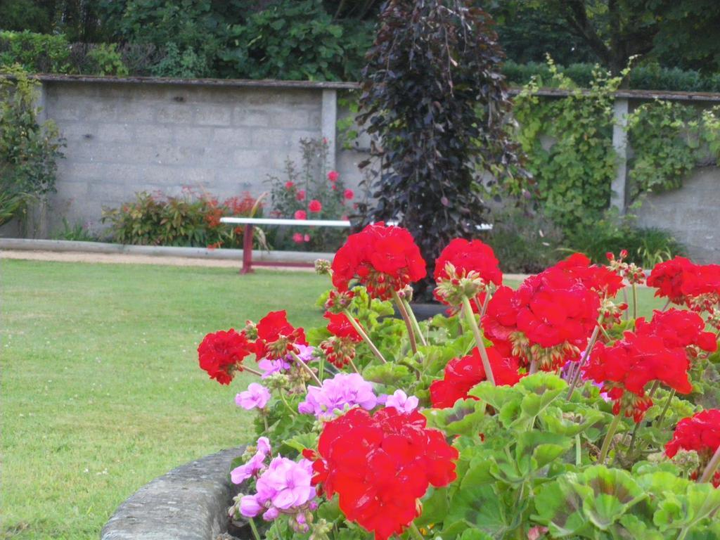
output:
[[[582,88],[590,87],[593,81],[593,64],[571,64],[557,66],[559,71]],[[518,64],[508,61],[503,73],[513,86],[527,84],[533,76],[539,77],[539,86],[552,86],[552,73],[546,63],[528,62]],[[720,73],[701,75],[698,71],[683,71],[678,68],[661,68],[657,64],[637,66],[629,75],[629,86],[638,90],[720,92]]]

